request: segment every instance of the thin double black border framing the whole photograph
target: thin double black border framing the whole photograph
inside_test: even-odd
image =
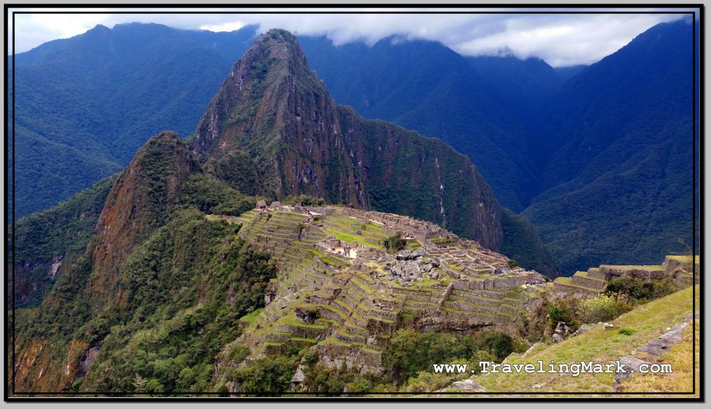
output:
[[[11,53],[9,53],[9,13],[10,9],[60,9],[60,8],[73,8],[73,9],[90,9],[90,8],[124,8],[132,9],[132,11],[13,11],[12,14],[12,48]],[[207,9],[218,9],[218,8],[234,8],[234,9],[260,9],[258,11],[208,11]],[[290,9],[289,11],[269,11],[269,9]],[[394,9],[399,11],[363,11],[358,9]],[[506,10],[481,10],[472,11],[471,9],[517,9],[515,11]],[[634,9],[697,9],[695,11],[634,11]],[[150,11],[140,11],[139,9],[152,9]],[[166,11],[156,11],[157,9],[171,9]],[[186,9],[182,11],[179,9]],[[205,10],[190,10],[190,9],[205,9]],[[264,10],[267,9],[267,10]],[[304,11],[301,9],[310,9]],[[315,11],[312,9],[324,9],[324,11]],[[339,10],[341,9],[341,10]],[[343,9],[348,9],[343,10]],[[413,9],[429,9],[427,11],[413,10]],[[447,11],[437,11],[437,9],[448,9]],[[461,11],[456,9],[468,9],[467,11]],[[547,9],[545,11],[538,11],[535,9]],[[553,9],[553,10],[549,10]],[[565,11],[555,10],[555,9],[567,9]],[[588,9],[587,11],[579,11],[574,9]],[[590,10],[593,9],[593,10]],[[601,10],[606,9],[606,10]],[[624,11],[619,11],[615,9],[626,9]],[[326,11],[327,10],[327,11]],[[12,107],[12,132],[9,132],[9,124],[5,124],[5,139],[4,139],[4,151],[5,151],[5,161],[6,161],[6,180],[4,184],[4,206],[5,206],[5,226],[6,229],[10,228],[10,231],[6,231],[4,240],[4,257],[5,257],[5,288],[4,294],[5,299],[9,297],[9,285],[7,278],[8,270],[11,270],[12,274],[12,307],[11,310],[8,307],[8,303],[4,303],[5,309],[5,353],[6,358],[12,357],[12,363],[6,360],[5,363],[5,383],[4,383],[4,400],[6,401],[107,401],[107,400],[131,400],[131,401],[224,401],[224,400],[250,400],[250,401],[334,401],[334,400],[409,400],[409,401],[480,401],[480,400],[497,400],[497,401],[574,401],[580,400],[584,396],[584,400],[587,401],[609,401],[609,400],[619,400],[619,401],[659,401],[663,400],[665,402],[669,401],[683,401],[683,402],[697,402],[704,400],[705,384],[704,384],[704,351],[703,351],[703,341],[705,337],[705,331],[702,324],[700,327],[700,351],[699,351],[699,390],[696,388],[696,360],[693,359],[693,371],[692,371],[692,392],[605,392],[605,393],[589,393],[589,392],[456,392],[456,393],[439,393],[439,392],[429,392],[429,393],[252,393],[252,394],[240,394],[246,396],[234,397],[230,396],[228,393],[117,393],[117,392],[18,392],[15,390],[15,363],[16,363],[16,351],[15,351],[15,58],[12,58],[11,71],[9,70],[9,55],[15,55],[15,14],[691,14],[693,16],[693,157],[692,157],[692,169],[693,169],[693,206],[692,206],[692,218],[693,218],[693,234],[692,234],[692,262],[695,261],[696,255],[696,244],[697,237],[698,243],[704,243],[704,99],[705,92],[703,89],[704,85],[704,4],[338,4],[338,5],[327,5],[327,4],[4,4],[4,68],[5,68],[5,80],[4,80],[4,92],[5,92],[5,118],[9,118],[9,107]],[[699,30],[697,33],[697,24],[699,23]],[[696,55],[699,55],[699,60],[697,61]],[[697,64],[698,63],[698,64]],[[697,73],[698,65],[698,73]],[[12,78],[12,100],[9,100],[9,73],[11,72]],[[698,84],[697,84],[698,78]],[[697,85],[699,92],[697,93]],[[698,100],[698,105],[697,105]],[[12,105],[9,105],[12,104]],[[697,118],[697,108],[700,112]],[[697,128],[697,119],[699,126]],[[698,129],[698,134],[697,134]],[[12,140],[12,147],[9,149],[9,140]],[[697,139],[698,138],[698,139]],[[697,151],[697,147],[699,151]],[[9,155],[12,156],[9,156]],[[696,167],[696,158],[699,154],[699,168]],[[8,172],[7,164],[9,163],[10,157],[12,158],[11,171]],[[699,172],[697,178],[697,171]],[[697,180],[700,181],[697,188]],[[9,181],[11,181],[11,191],[9,190]],[[10,194],[12,196],[10,196]],[[12,197],[11,214],[8,213],[8,203],[9,198]],[[699,207],[697,208],[697,201]],[[697,225],[697,211],[699,211],[698,225],[699,230],[696,230]],[[11,218],[9,218],[11,216]],[[11,241],[9,241],[9,239]],[[11,246],[11,250],[10,250]],[[699,249],[702,253],[702,248]],[[694,265],[694,264],[693,264]],[[699,275],[699,289],[700,294],[702,294],[702,284],[703,284],[703,266],[704,260],[700,257],[700,266],[698,272],[693,268],[693,282],[695,282],[697,274]],[[693,311],[696,309],[696,285],[693,287]],[[12,313],[12,331],[11,334],[7,331],[9,325],[9,314]],[[704,310],[704,299],[700,297],[699,302],[699,314],[695,319],[692,319],[693,326],[695,327],[697,319],[700,323],[703,317]],[[695,330],[692,331],[692,346],[693,354],[695,355],[696,349],[696,334]],[[11,344],[10,338],[11,336]],[[10,354],[9,348],[12,348]],[[12,368],[10,366],[12,365]],[[9,386],[11,384],[11,391],[9,391]],[[698,393],[698,396],[694,396]],[[137,396],[140,395],[140,396]],[[306,396],[304,396],[306,395]],[[364,396],[365,395],[365,396]],[[418,396],[412,396],[418,395]],[[425,397],[423,395],[432,395],[431,397]],[[526,397],[526,395],[535,395],[536,398]],[[540,397],[540,396],[543,397]],[[594,395],[604,395],[594,396]],[[660,398],[653,398],[649,395],[663,395]],[[691,396],[690,396],[691,395]]]

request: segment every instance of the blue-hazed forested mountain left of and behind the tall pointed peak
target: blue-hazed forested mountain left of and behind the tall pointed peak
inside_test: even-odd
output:
[[[16,216],[119,171],[146,135],[190,133],[230,63],[159,24],[96,26],[18,54]]]

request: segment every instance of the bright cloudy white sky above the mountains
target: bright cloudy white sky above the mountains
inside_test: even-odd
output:
[[[619,50],[656,23],[683,17],[679,14],[297,15],[289,14],[287,9],[264,9],[279,11],[281,14],[245,14],[244,10],[240,13],[239,9],[220,9],[231,11],[230,14],[111,14],[112,10],[117,9],[84,9],[105,12],[103,14],[72,14],[72,9],[61,9],[63,14],[17,14],[16,52],[28,51],[56,38],[76,36],[97,24],[112,28],[118,23],[140,21],[210,31],[232,31],[247,24],[257,24],[260,31],[285,28],[297,36],[325,35],[336,45],[352,41],[373,44],[381,38],[400,34],[408,38],[441,41],[462,55],[513,54],[518,58],[535,56],[543,58],[554,67],[560,67],[594,63]],[[12,26],[10,29],[12,30]]]

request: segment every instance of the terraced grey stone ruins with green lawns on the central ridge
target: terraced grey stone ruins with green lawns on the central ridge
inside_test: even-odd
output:
[[[211,216],[242,223],[238,234],[277,264],[266,307],[239,340],[254,356],[296,344],[326,365],[379,372],[387,339],[405,317],[423,330],[506,330],[548,290],[524,285],[544,282],[538,272],[511,267],[507,257],[433,223],[331,206],[265,213]],[[332,233],[358,238],[349,243],[355,258],[331,251]],[[390,254],[382,242],[395,233],[405,235],[407,247]]]

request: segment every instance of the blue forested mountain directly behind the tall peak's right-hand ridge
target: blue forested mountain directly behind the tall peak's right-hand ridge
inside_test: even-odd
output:
[[[525,208],[537,184],[525,154],[528,128],[461,55],[440,43],[398,37],[373,47],[336,47],[324,37],[299,41],[338,103],[442,139],[469,156],[503,206]]]

